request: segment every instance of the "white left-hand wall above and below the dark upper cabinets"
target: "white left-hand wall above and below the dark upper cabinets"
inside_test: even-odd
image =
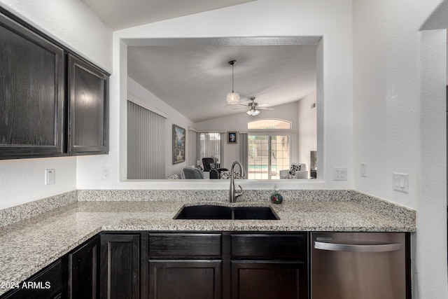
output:
[[[0,0],[0,6],[106,70],[112,69],[112,33],[81,1]],[[45,186],[45,169],[55,184]],[[76,158],[0,161],[0,209],[76,189]]]

